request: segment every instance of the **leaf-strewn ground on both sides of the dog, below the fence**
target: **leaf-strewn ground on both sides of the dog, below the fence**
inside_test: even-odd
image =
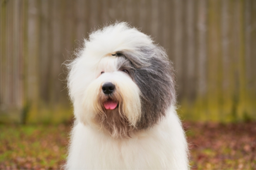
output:
[[[256,169],[256,122],[183,122],[191,169]],[[70,124],[0,125],[0,169],[60,169]]]

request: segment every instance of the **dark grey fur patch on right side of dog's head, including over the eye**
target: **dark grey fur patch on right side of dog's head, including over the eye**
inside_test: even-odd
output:
[[[119,70],[128,69],[141,91],[141,119],[138,129],[156,124],[171,104],[176,103],[173,67],[163,48],[156,45],[138,51],[118,51]]]

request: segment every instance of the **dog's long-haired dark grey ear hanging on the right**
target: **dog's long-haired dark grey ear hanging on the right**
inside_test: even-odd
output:
[[[141,129],[157,123],[176,101],[171,63],[158,57],[152,57],[149,61],[149,66],[135,69],[134,73],[134,80],[141,91]]]

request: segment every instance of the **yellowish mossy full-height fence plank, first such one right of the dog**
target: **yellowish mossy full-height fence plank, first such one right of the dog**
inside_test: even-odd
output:
[[[220,39],[220,1],[209,1],[209,51],[208,51],[208,109],[210,116],[217,120],[222,106],[222,64]],[[219,115],[220,114],[220,115]]]

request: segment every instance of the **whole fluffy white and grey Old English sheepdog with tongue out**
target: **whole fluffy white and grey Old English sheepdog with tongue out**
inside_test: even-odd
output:
[[[172,64],[125,22],[84,40],[68,64],[74,105],[66,169],[188,169]]]

